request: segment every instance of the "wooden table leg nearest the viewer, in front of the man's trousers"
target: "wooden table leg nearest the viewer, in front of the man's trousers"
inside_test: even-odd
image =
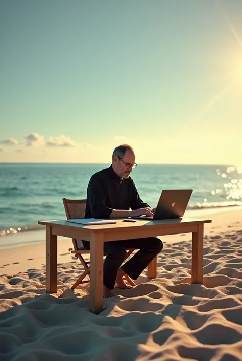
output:
[[[90,311],[103,310],[103,233],[95,233],[90,241]]]

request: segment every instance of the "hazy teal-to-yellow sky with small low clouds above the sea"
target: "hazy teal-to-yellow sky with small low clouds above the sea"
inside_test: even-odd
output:
[[[0,0],[0,162],[242,164],[241,0]]]

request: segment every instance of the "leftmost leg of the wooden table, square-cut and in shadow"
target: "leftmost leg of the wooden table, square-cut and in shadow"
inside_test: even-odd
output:
[[[57,236],[46,226],[46,292],[57,292]]]

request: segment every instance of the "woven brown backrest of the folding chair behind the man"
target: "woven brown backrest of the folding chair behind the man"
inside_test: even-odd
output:
[[[67,219],[85,218],[86,199],[66,199],[62,198]],[[85,249],[81,240],[72,238],[74,248]]]

